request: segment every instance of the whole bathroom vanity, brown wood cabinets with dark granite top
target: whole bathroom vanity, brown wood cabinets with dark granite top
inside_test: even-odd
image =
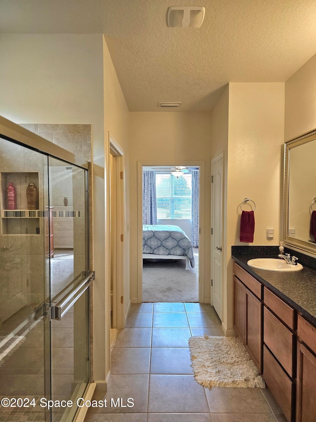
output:
[[[316,270],[254,269],[255,257],[233,247],[234,328],[287,421],[316,421]]]

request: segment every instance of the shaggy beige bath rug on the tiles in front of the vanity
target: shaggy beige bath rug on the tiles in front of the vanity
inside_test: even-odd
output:
[[[195,379],[204,387],[265,388],[238,337],[204,334],[191,337],[189,346]]]

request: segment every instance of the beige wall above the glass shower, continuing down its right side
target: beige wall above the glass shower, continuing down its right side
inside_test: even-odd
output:
[[[16,123],[92,124],[94,190],[94,378],[105,380],[105,150],[102,35],[1,35],[0,114]],[[103,329],[100,329],[102,327]],[[109,342],[108,342],[109,343]],[[108,346],[107,343],[107,346]],[[109,355],[109,347],[107,350]]]

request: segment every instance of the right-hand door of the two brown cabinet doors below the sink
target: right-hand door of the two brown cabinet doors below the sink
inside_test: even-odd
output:
[[[245,294],[245,347],[262,374],[262,303],[249,290],[245,290]]]

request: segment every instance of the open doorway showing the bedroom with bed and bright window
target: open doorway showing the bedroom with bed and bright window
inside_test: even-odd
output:
[[[201,298],[203,300],[203,282],[200,282],[200,275],[203,274],[203,235],[199,232],[199,228],[203,225],[203,215],[199,212],[201,208],[202,195],[202,177],[204,172],[203,162],[173,162],[173,163],[138,163],[138,301],[154,301],[154,302],[198,302]],[[172,175],[171,171],[174,167],[182,169],[182,174],[178,177]],[[181,231],[188,237],[191,242],[192,239],[192,223],[197,226],[197,238],[195,243],[192,243],[191,250],[193,253],[193,260],[190,257],[176,256],[178,244],[173,245],[174,249],[166,252],[166,256],[161,256],[163,248],[158,254],[155,251],[148,251],[144,244],[143,238],[143,197],[146,192],[143,192],[143,172],[153,171],[156,178],[156,204],[158,204],[157,225],[158,228],[163,226],[178,226]],[[192,173],[197,173],[197,213],[195,223],[192,221]],[[147,199],[146,199],[147,200]],[[147,230],[148,227],[145,229]],[[155,228],[156,230],[157,228]],[[176,230],[178,230],[176,229]],[[179,229],[179,230],[180,230]],[[164,229],[163,229],[164,230]],[[169,230],[169,228],[168,228]],[[171,229],[173,232],[173,228]],[[144,231],[145,237],[147,236]],[[177,241],[173,238],[178,236],[176,234],[169,234],[173,243]],[[156,234],[154,234],[156,236]],[[158,237],[160,234],[158,234]],[[164,236],[164,234],[163,234]],[[148,237],[148,236],[147,236]],[[149,240],[151,242],[152,240]],[[165,247],[165,240],[162,242]],[[145,249],[144,249],[145,247]],[[175,255],[173,255],[175,251]],[[143,252],[144,255],[143,255]],[[147,254],[146,252],[150,252]],[[159,255],[160,254],[160,255]],[[171,255],[171,256],[170,256]],[[143,258],[146,260],[143,261]],[[170,259],[172,258],[172,259]],[[179,259],[184,258],[184,259]],[[189,258],[189,259],[188,259]],[[163,261],[161,260],[163,259]],[[187,265],[185,263],[187,261]],[[192,267],[193,263],[193,267]],[[186,269],[187,268],[187,269]],[[155,277],[157,281],[155,281]],[[195,283],[195,287],[192,287]],[[191,291],[190,291],[191,290]],[[155,292],[155,295],[153,294]],[[156,294],[157,293],[157,294]],[[140,299],[141,298],[141,299]]]

